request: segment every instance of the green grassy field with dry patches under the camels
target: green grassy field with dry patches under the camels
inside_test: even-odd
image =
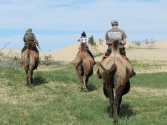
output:
[[[138,71],[148,68],[147,63],[133,63]],[[89,92],[80,91],[71,65],[40,65],[31,89],[25,80],[23,69],[0,70],[0,125],[112,125],[106,110],[109,100],[95,74],[90,77]],[[167,125],[166,81],[165,72],[131,78],[119,125]]]

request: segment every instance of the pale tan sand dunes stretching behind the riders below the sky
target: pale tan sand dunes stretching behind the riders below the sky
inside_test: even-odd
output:
[[[104,53],[107,50],[107,45],[105,42],[96,42],[96,47],[89,46],[91,52],[93,54]],[[132,43],[127,42],[125,48],[134,47]],[[80,43],[76,42],[71,44],[67,47],[64,47],[60,50],[54,52],[40,52],[40,58],[43,60],[44,56],[51,55],[55,61],[72,61],[76,54],[79,51]],[[137,46],[135,46],[136,48]],[[95,49],[96,48],[96,49]],[[143,49],[143,48],[150,48],[150,49]],[[151,49],[152,48],[152,49]],[[153,49],[154,48],[154,49]],[[156,49],[155,49],[156,48]],[[142,49],[142,50],[141,50]],[[4,53],[5,55],[19,55],[21,54],[21,50],[9,50],[4,49],[0,50],[0,52]],[[129,50],[127,49],[127,56],[131,59],[147,59],[147,60],[167,60],[167,40],[162,42],[155,42],[153,44],[143,44],[138,47],[138,49]],[[101,60],[101,57],[95,58],[97,61]]]

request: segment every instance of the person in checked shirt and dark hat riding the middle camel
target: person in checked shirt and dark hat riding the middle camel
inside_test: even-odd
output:
[[[94,65],[96,65],[95,59],[93,54],[91,53],[91,51],[89,50],[89,46],[88,46],[88,38],[86,37],[86,33],[83,31],[83,33],[81,34],[81,37],[78,39],[78,42],[83,42],[86,44],[86,50],[89,53],[89,55],[93,58],[94,60]]]

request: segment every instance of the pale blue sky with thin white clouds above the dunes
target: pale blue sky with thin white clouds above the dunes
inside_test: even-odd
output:
[[[127,41],[167,40],[167,0],[0,0],[0,48],[22,49],[32,28],[42,51],[87,37],[105,40],[117,19]]]

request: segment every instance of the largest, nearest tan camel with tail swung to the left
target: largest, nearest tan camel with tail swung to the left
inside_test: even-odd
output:
[[[113,41],[111,55],[99,67],[99,75],[103,80],[103,91],[110,101],[109,116],[114,116],[114,125],[118,122],[117,113],[120,111],[122,96],[130,90],[129,78],[132,74],[132,67],[120,55],[118,44],[118,40]]]

